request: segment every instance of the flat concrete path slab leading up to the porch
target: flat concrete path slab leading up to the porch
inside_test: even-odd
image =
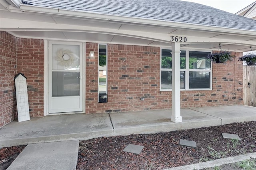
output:
[[[79,141],[29,144],[7,170],[76,170]]]

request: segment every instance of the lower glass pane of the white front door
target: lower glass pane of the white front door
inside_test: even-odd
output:
[[[79,72],[52,72],[52,96],[79,96]]]

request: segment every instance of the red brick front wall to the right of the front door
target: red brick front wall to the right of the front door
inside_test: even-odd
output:
[[[97,48],[97,44],[86,44],[87,53]],[[242,62],[238,61],[242,53],[232,55],[236,55],[232,61],[213,63],[212,90],[181,91],[181,107],[242,104]],[[171,108],[172,92],[159,90],[159,47],[108,44],[107,103],[98,103],[97,66],[97,53],[93,59],[86,58],[86,113]]]

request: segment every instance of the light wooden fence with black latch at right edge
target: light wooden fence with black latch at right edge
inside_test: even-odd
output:
[[[244,105],[256,107],[256,65],[244,65]]]

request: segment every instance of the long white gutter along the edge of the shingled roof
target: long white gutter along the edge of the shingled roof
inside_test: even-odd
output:
[[[158,25],[158,26],[184,28],[184,29],[197,29],[197,30],[214,31],[214,32],[218,31],[218,32],[224,32],[224,33],[245,34],[245,35],[255,36],[255,31],[244,30],[244,29],[232,29],[232,28],[170,22],[170,21],[160,21],[160,20],[152,20],[152,19],[148,20],[143,18],[114,16],[114,15],[98,14],[93,12],[82,12],[82,11],[74,11],[74,10],[63,10],[58,8],[47,8],[47,7],[31,6],[31,5],[25,5],[25,4],[20,5],[20,9],[23,12],[33,12],[33,13],[51,14],[51,15],[59,15],[59,16],[72,16],[72,17],[80,17],[80,18],[82,17],[82,18],[91,18],[91,19],[97,19],[97,20],[119,21],[119,22],[128,22],[128,23],[146,24],[146,25]]]

